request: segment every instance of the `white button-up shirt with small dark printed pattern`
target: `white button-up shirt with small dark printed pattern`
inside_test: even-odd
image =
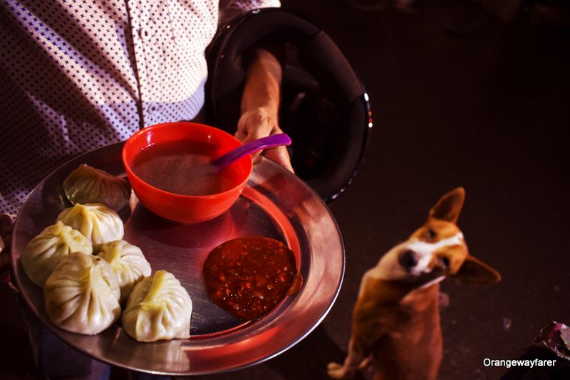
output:
[[[278,0],[0,0],[0,211],[66,160],[192,120],[218,23]]]

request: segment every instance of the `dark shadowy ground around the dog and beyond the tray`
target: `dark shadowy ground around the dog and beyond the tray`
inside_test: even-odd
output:
[[[570,324],[570,33],[501,23],[468,1],[426,3],[406,14],[284,1],[328,31],[371,97],[366,162],[331,204],[346,277],[330,314],[303,342],[208,379],[326,379],[328,361],[345,355],[361,275],[455,186],[467,190],[459,225],[470,252],[502,282],[443,283],[450,305],[442,310],[440,379],[497,379],[505,370],[483,366],[484,358],[514,359],[550,321]],[[0,300],[0,378],[35,377],[4,284]]]

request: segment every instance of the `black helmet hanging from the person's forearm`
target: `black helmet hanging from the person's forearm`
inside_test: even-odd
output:
[[[279,127],[293,140],[291,163],[330,202],[356,176],[372,115],[360,78],[314,23],[282,9],[260,9],[222,26],[207,53],[207,121],[235,131],[245,79],[243,55],[267,41],[285,49]]]

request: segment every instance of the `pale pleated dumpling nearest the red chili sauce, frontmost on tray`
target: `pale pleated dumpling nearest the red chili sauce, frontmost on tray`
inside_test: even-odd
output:
[[[192,300],[174,275],[159,270],[135,285],[123,312],[123,329],[140,342],[190,337]]]

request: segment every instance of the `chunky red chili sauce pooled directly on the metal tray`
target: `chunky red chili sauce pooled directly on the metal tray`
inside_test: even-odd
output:
[[[294,253],[271,238],[237,238],[220,244],[206,258],[202,274],[209,297],[244,320],[261,317],[301,287]]]

